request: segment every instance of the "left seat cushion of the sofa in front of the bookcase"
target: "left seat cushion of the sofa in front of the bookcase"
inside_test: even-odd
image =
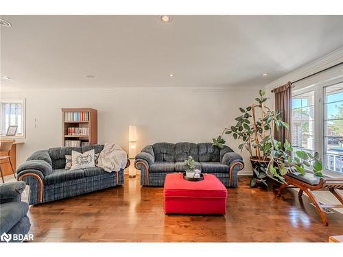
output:
[[[69,180],[78,180],[80,178],[84,178],[83,169],[74,169],[72,171],[68,169],[54,169],[50,175],[44,177],[44,184],[58,184]]]

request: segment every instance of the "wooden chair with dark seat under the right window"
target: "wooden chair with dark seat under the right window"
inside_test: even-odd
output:
[[[309,196],[324,225],[329,225],[329,222],[323,208],[343,208],[343,197],[337,192],[337,189],[343,189],[343,178],[318,178],[311,173],[305,175],[287,173],[284,178],[286,183],[279,188],[278,196],[281,196],[285,188],[299,188],[298,197],[302,197],[304,192]],[[341,204],[320,204],[311,191],[330,191]]]

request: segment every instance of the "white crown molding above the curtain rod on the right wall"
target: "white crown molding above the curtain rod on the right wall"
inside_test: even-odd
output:
[[[306,77],[318,71],[322,71],[323,69],[327,69],[330,66],[338,64],[343,61],[343,47],[337,49],[322,58],[315,60],[314,62],[310,62],[295,71],[288,73],[287,75],[280,77],[279,79],[274,80],[270,84],[265,86],[265,90],[272,90],[272,88],[276,88],[278,86],[282,86],[287,82],[292,82],[302,77]]]

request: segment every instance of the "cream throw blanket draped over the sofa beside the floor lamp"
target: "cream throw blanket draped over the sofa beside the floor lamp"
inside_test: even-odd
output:
[[[126,162],[128,162],[128,156],[119,145],[105,143],[104,149],[102,149],[99,159],[97,159],[97,167],[107,172],[117,172],[126,167]]]

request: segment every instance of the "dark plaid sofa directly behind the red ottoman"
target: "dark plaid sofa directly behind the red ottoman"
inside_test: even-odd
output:
[[[243,159],[224,145],[212,143],[155,143],[147,145],[136,156],[134,166],[141,170],[142,186],[163,186],[168,173],[185,171],[184,160],[192,156],[196,169],[215,175],[226,187],[237,187],[237,173],[243,169]]]

